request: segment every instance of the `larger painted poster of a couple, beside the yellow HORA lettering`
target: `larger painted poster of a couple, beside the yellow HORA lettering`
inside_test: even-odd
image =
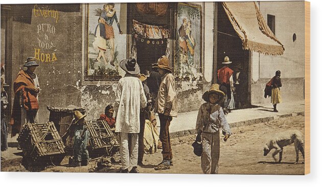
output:
[[[87,10],[85,80],[118,79],[122,73],[119,61],[126,58],[126,35],[119,22],[121,4],[89,4]]]

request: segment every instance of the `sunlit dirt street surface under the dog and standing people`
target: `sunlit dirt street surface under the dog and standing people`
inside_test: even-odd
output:
[[[300,153],[299,164],[295,161],[294,146],[284,148],[283,160],[275,163],[271,153],[263,156],[263,146],[270,135],[289,129],[297,129],[304,133],[304,116],[294,116],[275,119],[265,123],[252,124],[246,127],[232,128],[233,135],[224,142],[221,135],[220,141],[220,174],[285,174],[303,175],[304,164]],[[155,171],[154,165],[162,161],[161,150],[152,155],[144,156],[144,164],[139,167],[140,173],[189,173],[202,174],[200,157],[193,154],[191,146],[195,136],[173,138],[173,166],[170,170]],[[21,158],[2,161],[2,171],[27,171],[20,164]],[[67,158],[62,162],[63,166],[47,167],[43,172],[109,172],[119,171],[121,164],[113,164],[111,168],[95,169],[95,161],[90,162],[87,167],[69,168]]]

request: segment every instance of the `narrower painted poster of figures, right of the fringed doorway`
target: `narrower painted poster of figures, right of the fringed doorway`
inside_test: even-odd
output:
[[[175,47],[175,76],[191,80],[200,73],[201,6],[179,3],[177,40]]]

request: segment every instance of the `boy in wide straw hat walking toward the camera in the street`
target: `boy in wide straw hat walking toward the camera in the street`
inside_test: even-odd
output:
[[[202,95],[206,102],[199,108],[196,141],[202,141],[201,169],[204,174],[218,174],[219,129],[222,127],[224,141],[232,134],[224,112],[218,105],[224,96],[225,94],[219,90],[218,84],[212,85],[210,90]]]

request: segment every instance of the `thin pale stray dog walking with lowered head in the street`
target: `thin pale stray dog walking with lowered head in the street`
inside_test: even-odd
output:
[[[278,133],[274,137],[272,137],[264,146],[264,156],[266,156],[270,152],[270,150],[275,149],[272,156],[274,160],[277,161],[277,159],[275,158],[275,155],[280,153],[280,159],[278,162],[281,162],[282,156],[283,156],[283,147],[288,146],[292,143],[294,143],[295,153],[296,153],[296,161],[294,162],[294,164],[298,163],[299,150],[301,151],[303,155],[303,160],[304,160],[303,134],[297,130],[288,130],[285,132]]]

